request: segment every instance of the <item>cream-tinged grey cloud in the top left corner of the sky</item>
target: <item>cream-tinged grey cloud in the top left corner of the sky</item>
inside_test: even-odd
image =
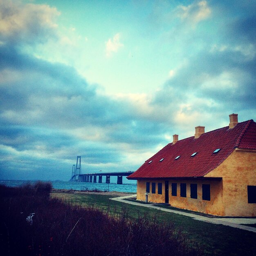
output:
[[[0,41],[2,43],[43,42],[56,36],[55,22],[60,14],[45,4],[21,4],[0,0]]]

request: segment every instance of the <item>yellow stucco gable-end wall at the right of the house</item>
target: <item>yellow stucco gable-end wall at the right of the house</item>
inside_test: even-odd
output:
[[[256,152],[234,150],[205,177],[222,177],[224,216],[256,216],[248,203],[247,186],[256,186]]]

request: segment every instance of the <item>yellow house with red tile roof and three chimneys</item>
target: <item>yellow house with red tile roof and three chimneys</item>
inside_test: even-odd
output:
[[[256,123],[238,123],[173,142],[127,178],[137,180],[137,200],[168,203],[217,216],[256,216]]]

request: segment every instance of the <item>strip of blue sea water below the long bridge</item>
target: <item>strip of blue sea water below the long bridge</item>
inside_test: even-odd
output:
[[[0,184],[6,186],[20,186],[26,183],[35,183],[35,180],[0,180]],[[136,184],[116,184],[116,183],[94,183],[94,182],[75,182],[75,181],[49,181],[54,189],[74,189],[74,190],[100,190],[100,191],[119,191],[137,192]]]

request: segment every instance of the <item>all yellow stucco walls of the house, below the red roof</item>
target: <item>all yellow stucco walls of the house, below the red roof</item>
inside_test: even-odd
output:
[[[256,186],[256,152],[234,150],[222,164],[204,177],[222,180],[168,180],[169,204],[217,216],[256,216],[256,204],[248,203],[247,186]],[[150,182],[149,202],[165,202],[165,180],[138,180],[137,200],[145,200],[146,182]],[[152,194],[152,182],[156,193]],[[162,195],[157,194],[162,182]],[[177,196],[171,195],[171,183],[177,183]],[[186,198],[180,197],[180,183],[186,183]],[[198,198],[190,198],[190,184],[197,184]],[[202,200],[202,184],[210,184],[211,200]]]

